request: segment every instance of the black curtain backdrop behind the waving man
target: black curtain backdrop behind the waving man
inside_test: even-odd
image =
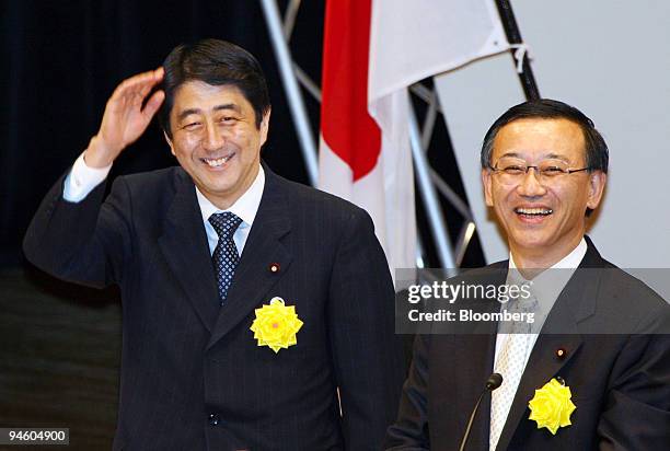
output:
[[[324,2],[302,3],[291,49],[320,82]],[[217,37],[256,56],[273,102],[263,158],[277,173],[308,183],[259,1],[5,0],[1,8],[0,265],[21,263],[32,215],[97,131],[114,88],[158,67],[184,42]],[[305,100],[316,127],[319,105]],[[154,122],[112,176],[174,164]]]

